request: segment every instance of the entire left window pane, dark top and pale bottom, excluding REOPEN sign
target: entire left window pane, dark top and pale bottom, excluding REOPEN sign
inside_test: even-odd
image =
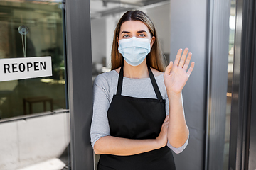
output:
[[[0,82],[1,170],[69,169],[63,3],[0,1],[0,60],[51,56],[52,63],[50,77]]]

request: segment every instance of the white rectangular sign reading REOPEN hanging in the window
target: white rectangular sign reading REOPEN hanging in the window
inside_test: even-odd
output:
[[[0,59],[0,81],[52,76],[51,57]]]

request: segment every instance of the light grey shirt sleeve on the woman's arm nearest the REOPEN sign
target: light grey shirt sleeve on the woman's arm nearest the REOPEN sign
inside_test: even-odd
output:
[[[110,135],[107,110],[110,107],[110,94],[107,77],[100,74],[93,84],[93,114],[90,129],[92,147],[101,137]]]

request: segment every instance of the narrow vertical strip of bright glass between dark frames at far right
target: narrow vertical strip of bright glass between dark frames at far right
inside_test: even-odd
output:
[[[233,60],[234,60],[234,42],[235,42],[235,0],[231,0],[230,8],[230,36],[229,36],[229,52],[228,52],[228,91],[226,106],[226,125],[225,125],[225,146],[223,169],[228,169],[229,143],[230,143],[230,112],[232,98],[232,78],[233,78]]]

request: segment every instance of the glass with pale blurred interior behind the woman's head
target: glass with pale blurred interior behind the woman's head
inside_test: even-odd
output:
[[[114,29],[122,14],[131,9],[144,11],[156,26],[161,50],[169,63],[170,1],[97,1],[90,0],[92,30],[92,80],[111,69],[111,48]],[[95,154],[95,169],[100,155]]]

